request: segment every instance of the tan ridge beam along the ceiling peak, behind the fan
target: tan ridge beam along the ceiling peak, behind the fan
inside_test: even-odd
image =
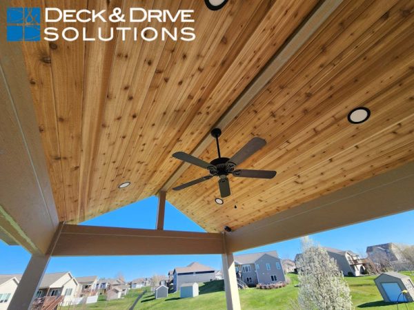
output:
[[[277,52],[273,59],[271,59],[264,70],[257,74],[255,80],[246,87],[246,90],[239,96],[239,98],[231,105],[231,107],[226,111],[226,113],[221,116],[219,121],[213,126],[221,128],[222,130],[230,124],[233,119],[239,115],[244,108],[255,98],[257,94],[267,85],[270,79],[275,76],[275,74],[283,68],[283,66],[288,62],[291,56],[293,56],[299,48],[302,47],[306,41],[311,37],[311,35],[319,28],[326,19],[332,14],[333,11],[342,3],[342,0],[328,0],[324,1],[315,12],[311,15],[309,19],[297,30],[296,34],[288,43],[286,43],[282,50]],[[213,137],[208,133],[201,140],[199,145],[191,153],[193,156],[200,156],[213,141]],[[183,163],[168,181],[161,187],[162,191],[168,191],[178,180],[178,178],[184,174],[186,169],[190,165],[188,163]]]

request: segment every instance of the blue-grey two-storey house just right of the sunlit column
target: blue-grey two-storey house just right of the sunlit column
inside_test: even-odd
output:
[[[236,255],[235,266],[237,278],[248,285],[286,281],[277,251]]]

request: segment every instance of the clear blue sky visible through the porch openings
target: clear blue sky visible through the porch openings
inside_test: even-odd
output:
[[[151,197],[103,214],[83,224],[153,229],[156,214],[157,198]],[[403,214],[324,231],[311,237],[326,247],[351,249],[358,253],[364,251],[367,245],[385,242],[414,243],[413,223],[414,211],[408,211]],[[169,203],[166,204],[164,228],[204,231]],[[241,253],[268,250],[277,250],[281,258],[294,258],[299,251],[299,239],[278,242]],[[22,247],[8,246],[0,241],[0,274],[22,273],[29,259],[30,254]],[[97,256],[52,258],[46,272],[71,271],[74,276],[99,277],[115,277],[122,273],[126,280],[132,280],[133,278],[152,276],[154,273],[166,274],[174,267],[186,266],[193,261],[221,269],[221,256],[219,255]]]

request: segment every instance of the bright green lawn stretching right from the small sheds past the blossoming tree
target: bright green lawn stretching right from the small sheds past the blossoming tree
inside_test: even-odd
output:
[[[408,274],[408,273],[406,273]],[[297,298],[297,275],[288,274],[292,283],[280,289],[243,289],[239,290],[242,309],[287,309],[289,301]],[[356,309],[397,309],[395,304],[382,302],[380,292],[375,287],[373,279],[376,276],[346,277],[353,304]],[[412,277],[414,280],[414,277]],[[406,304],[414,310],[414,304]],[[135,309],[226,309],[223,281],[201,283],[199,296],[195,298],[179,298],[179,293],[171,293],[167,298],[155,300],[151,292],[139,300]],[[400,309],[406,309],[400,304]]]

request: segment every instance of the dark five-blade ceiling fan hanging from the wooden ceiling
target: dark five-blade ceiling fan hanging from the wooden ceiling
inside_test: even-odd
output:
[[[201,178],[197,178],[196,180],[174,187],[173,189],[175,191],[204,182],[205,180],[213,178],[213,176],[218,176],[220,195],[224,198],[230,196],[230,183],[228,182],[227,177],[228,174],[233,174],[233,176],[241,178],[273,178],[276,175],[275,171],[269,170],[235,169],[237,165],[244,162],[248,157],[252,156],[255,152],[266,145],[266,141],[264,139],[258,137],[251,139],[248,143],[246,143],[246,145],[244,145],[244,147],[239,149],[239,152],[234,154],[231,158],[227,158],[221,157],[220,154],[219,136],[221,135],[221,130],[219,130],[219,128],[215,128],[211,131],[211,135],[216,139],[217,153],[219,157],[213,159],[210,163],[184,152],[172,154],[173,157],[181,161],[207,169],[210,172],[208,176],[203,176]]]

